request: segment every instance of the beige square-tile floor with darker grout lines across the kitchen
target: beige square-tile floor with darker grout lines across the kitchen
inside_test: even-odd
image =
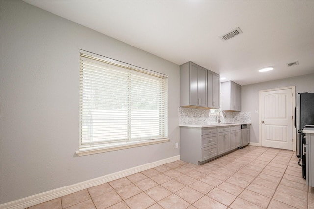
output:
[[[295,153],[247,146],[204,165],[175,161],[28,209],[314,209]],[[312,191],[313,190],[313,191]]]

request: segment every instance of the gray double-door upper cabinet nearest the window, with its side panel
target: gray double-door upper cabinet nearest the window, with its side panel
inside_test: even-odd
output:
[[[207,69],[192,62],[180,66],[180,106],[207,107]]]

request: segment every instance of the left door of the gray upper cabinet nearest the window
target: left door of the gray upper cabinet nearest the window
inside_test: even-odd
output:
[[[198,106],[198,66],[190,64],[190,105]]]

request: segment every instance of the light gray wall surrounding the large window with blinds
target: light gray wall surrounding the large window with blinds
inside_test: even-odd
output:
[[[178,65],[23,1],[0,3],[1,204],[179,155]],[[74,154],[79,49],[168,75],[170,142]]]

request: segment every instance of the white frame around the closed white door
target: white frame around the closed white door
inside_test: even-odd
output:
[[[270,91],[276,91],[276,90],[284,90],[284,89],[291,89],[292,90],[292,127],[295,124],[295,115],[294,115],[294,108],[296,106],[296,96],[295,96],[295,86],[287,86],[287,87],[281,87],[281,88],[275,88],[275,89],[265,89],[259,91],[259,146],[262,146],[262,116],[261,116],[261,93],[262,92],[270,92]],[[293,144],[293,151],[296,151],[296,128],[292,128],[292,144]]]

